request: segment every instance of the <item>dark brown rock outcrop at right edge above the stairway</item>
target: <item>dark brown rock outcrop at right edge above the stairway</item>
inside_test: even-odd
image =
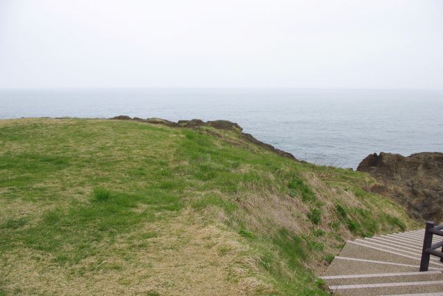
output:
[[[370,154],[357,171],[370,173],[380,183],[372,191],[405,205],[416,218],[443,221],[443,153],[422,152],[408,157]]]

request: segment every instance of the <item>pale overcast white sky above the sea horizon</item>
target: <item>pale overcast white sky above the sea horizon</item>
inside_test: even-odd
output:
[[[0,88],[442,89],[442,0],[0,0]]]

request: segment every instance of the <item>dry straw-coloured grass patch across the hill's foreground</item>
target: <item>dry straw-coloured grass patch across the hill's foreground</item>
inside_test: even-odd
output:
[[[129,233],[107,256],[90,257],[75,266],[57,266],[51,255],[21,249],[3,255],[3,289],[23,295],[249,295],[271,292],[250,268],[241,237],[208,225],[190,210],[168,221],[145,225],[136,232],[156,232],[147,245],[129,254]],[[132,241],[133,244],[142,242]],[[144,242],[146,243],[146,242]],[[120,266],[113,269],[113,266]],[[85,271],[86,270],[86,271]],[[80,275],[80,272],[84,272]]]

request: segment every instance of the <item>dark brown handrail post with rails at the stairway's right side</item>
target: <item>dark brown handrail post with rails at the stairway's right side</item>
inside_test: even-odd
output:
[[[424,230],[422,261],[420,262],[420,271],[428,271],[429,259],[431,255],[440,257],[440,262],[443,262],[443,241],[432,244],[433,235],[443,237],[443,225],[435,225],[433,221],[426,221],[426,228]],[[436,249],[442,247],[442,252]]]

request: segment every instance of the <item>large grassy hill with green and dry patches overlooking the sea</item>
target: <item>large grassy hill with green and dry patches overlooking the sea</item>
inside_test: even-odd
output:
[[[0,295],[327,295],[346,239],[416,226],[373,183],[236,130],[0,120]]]

